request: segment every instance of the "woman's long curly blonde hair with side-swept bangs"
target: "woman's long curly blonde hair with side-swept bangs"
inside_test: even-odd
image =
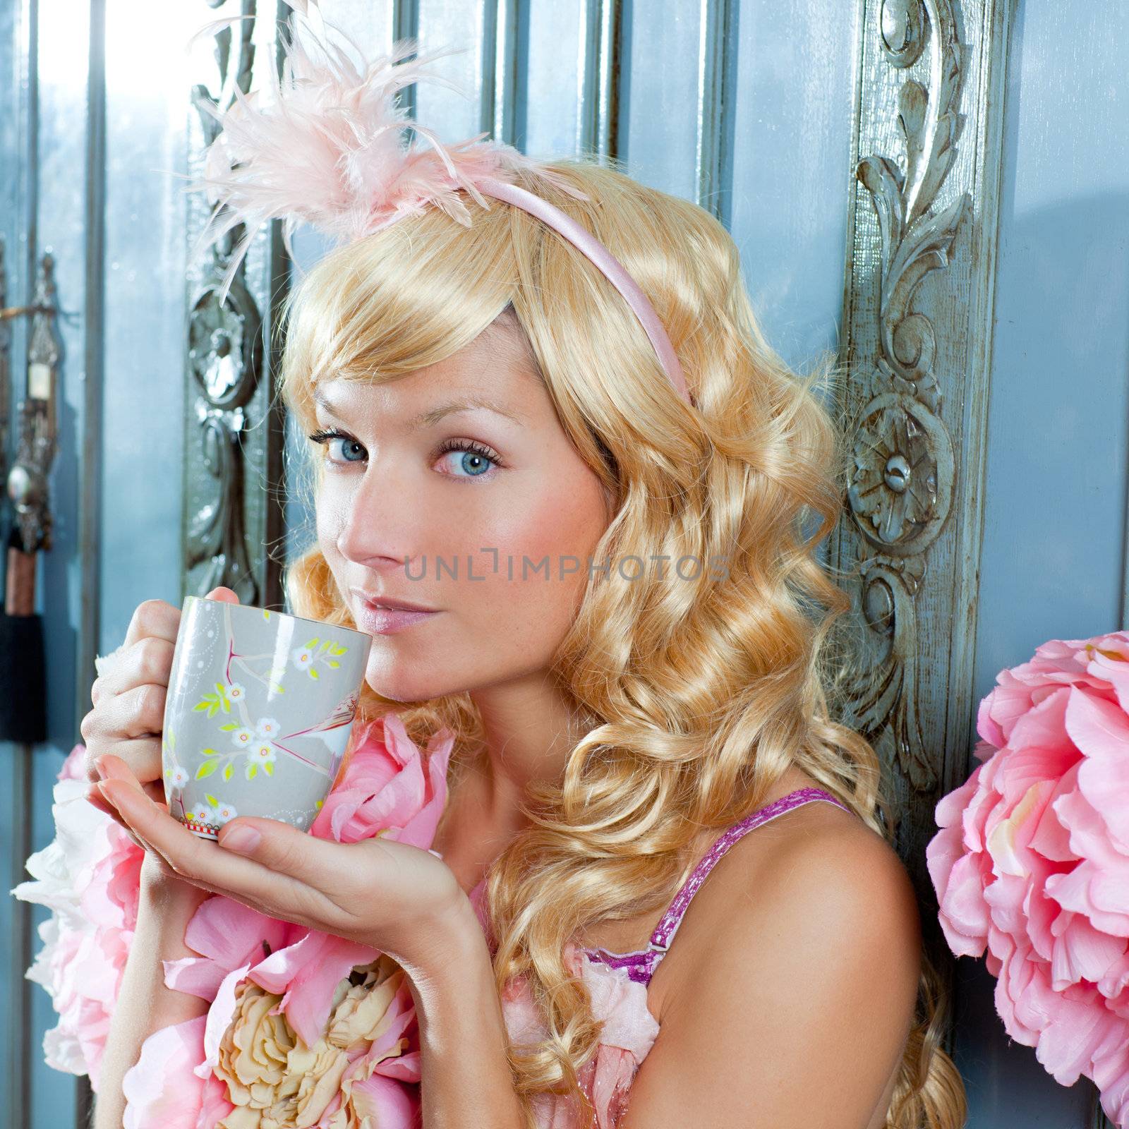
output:
[[[816,388],[832,367],[798,378],[770,349],[737,247],[706,210],[595,160],[548,164],[588,199],[536,176],[519,183],[639,282],[694,408],[598,269],[497,203],[470,228],[430,209],[327,255],[291,295],[280,393],[313,430],[318,380],[395,379],[508,317],[613,502],[594,557],[727,562],[724,578],[702,567],[679,584],[589,571],[551,671],[583,732],[562,778],[527,789],[531,825],[487,873],[498,990],[525,977],[549,1032],[532,1050],[509,1048],[527,1122],[533,1099],[553,1092],[571,1095],[588,1129],[578,1071],[601,1032],[563,961],[577,922],[665,905],[702,829],[755,809],[789,765],[887,839],[891,821],[877,754],[829,708],[831,628],[850,604],[816,557],[842,499],[843,444]],[[355,625],[316,543],[289,564],[286,587],[296,614]],[[483,755],[469,693],[406,703],[362,693],[364,717],[394,710],[421,746],[441,728],[455,735],[452,793]],[[940,1048],[945,1007],[926,959],[890,1129],[963,1124],[963,1086]]]

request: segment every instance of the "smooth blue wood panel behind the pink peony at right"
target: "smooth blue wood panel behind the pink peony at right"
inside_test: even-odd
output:
[[[978,698],[1043,640],[1115,630],[1126,614],[1129,10],[1021,3],[1010,56]],[[969,1129],[1088,1126],[1089,1083],[1056,1083],[1007,1039],[991,977],[962,978]]]

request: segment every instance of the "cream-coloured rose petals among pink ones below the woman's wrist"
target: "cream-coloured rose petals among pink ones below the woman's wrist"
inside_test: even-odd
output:
[[[408,1040],[401,1038],[383,1053],[368,1053],[394,1019],[396,1009],[391,1005],[404,975],[386,955],[358,965],[334,990],[326,1032],[313,1047],[303,1042],[283,1014],[270,1014],[281,997],[250,980],[236,986],[235,1015],[224,1032],[215,1068],[227,1083],[235,1109],[217,1129],[308,1129],[339,1093],[334,1129],[375,1123],[367,1119],[377,1111],[367,1108],[362,1094],[352,1093],[352,1085],[369,1077],[382,1059],[406,1050]],[[350,1071],[355,1062],[357,1068]]]

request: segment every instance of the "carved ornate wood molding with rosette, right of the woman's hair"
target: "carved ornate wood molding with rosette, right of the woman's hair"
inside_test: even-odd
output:
[[[925,848],[968,776],[1008,30],[1014,0],[860,0],[830,561],[857,610],[848,720],[893,789],[895,846],[946,980]]]

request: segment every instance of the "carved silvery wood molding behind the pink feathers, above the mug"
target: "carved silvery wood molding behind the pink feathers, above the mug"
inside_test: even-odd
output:
[[[240,0],[239,9],[246,18],[216,32],[215,65],[192,90],[190,176],[201,174],[218,130],[204,107],[227,108],[236,89],[261,85],[254,76],[279,65],[278,21],[288,9],[279,0]],[[187,215],[191,248],[209,216],[200,194],[190,196]],[[273,384],[287,260],[281,227],[272,222],[221,301],[220,280],[243,233],[240,225],[203,263],[189,264],[182,575],[185,594],[222,584],[244,604],[281,607],[285,415]]]

